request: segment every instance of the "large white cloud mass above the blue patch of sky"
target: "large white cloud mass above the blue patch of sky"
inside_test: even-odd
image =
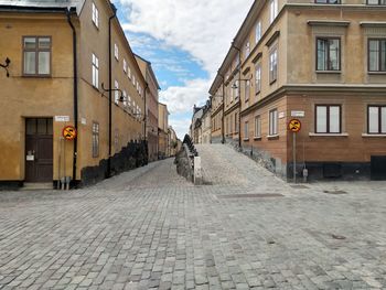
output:
[[[124,29],[190,52],[211,76],[217,71],[253,0],[116,0],[128,11]]]

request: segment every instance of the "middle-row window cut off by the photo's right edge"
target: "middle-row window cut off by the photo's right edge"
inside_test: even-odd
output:
[[[386,39],[368,40],[368,72],[386,72]]]

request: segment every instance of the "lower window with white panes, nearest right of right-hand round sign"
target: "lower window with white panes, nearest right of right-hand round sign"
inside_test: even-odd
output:
[[[315,132],[341,133],[341,106],[317,105]]]

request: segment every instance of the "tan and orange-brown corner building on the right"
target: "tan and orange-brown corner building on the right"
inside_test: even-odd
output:
[[[383,3],[255,1],[210,92],[226,136],[283,178],[386,179]]]

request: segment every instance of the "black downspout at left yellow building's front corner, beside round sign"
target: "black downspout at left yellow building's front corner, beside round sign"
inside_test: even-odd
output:
[[[74,127],[78,131],[78,92],[77,92],[77,42],[76,30],[71,22],[71,11],[66,9],[67,22],[73,31],[73,69],[74,69]],[[77,167],[77,137],[74,139],[74,157],[73,157],[73,182],[76,182],[76,167]]]

